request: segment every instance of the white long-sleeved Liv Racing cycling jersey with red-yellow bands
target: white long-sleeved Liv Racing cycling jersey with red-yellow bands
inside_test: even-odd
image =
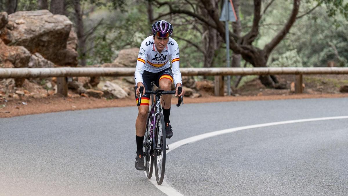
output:
[[[172,60],[172,71],[174,84],[181,83],[181,73],[179,70],[179,45],[176,41],[169,37],[166,48],[163,49],[161,54],[157,51],[157,48],[153,42],[153,36],[149,36],[141,43],[138,59],[136,61],[136,69],[134,73],[135,84],[143,82],[144,70],[152,73],[165,70],[171,67],[169,58]]]

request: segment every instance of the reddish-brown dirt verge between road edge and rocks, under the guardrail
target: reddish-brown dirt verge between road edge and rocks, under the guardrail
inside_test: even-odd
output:
[[[305,89],[302,94],[294,94],[290,91],[290,84],[294,76],[278,76],[280,82],[286,83],[287,89],[268,89],[259,80],[250,81],[234,90],[236,96],[215,97],[211,93],[201,92],[199,98],[184,97],[184,104],[226,102],[226,101],[250,101],[250,100],[278,100],[278,99],[305,99],[305,98],[339,98],[348,97],[348,93],[339,92],[341,85],[348,85],[348,77],[345,75],[313,75],[304,76]],[[173,97],[172,104],[177,103]],[[87,97],[62,97],[59,95],[46,98],[19,97],[18,99],[0,101],[0,118],[22,116],[28,114],[40,114],[48,112],[85,110],[103,107],[134,106],[136,102],[133,96],[124,99],[97,99]],[[180,106],[180,107],[184,107]]]

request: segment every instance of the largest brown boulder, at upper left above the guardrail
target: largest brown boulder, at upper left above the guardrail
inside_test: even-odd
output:
[[[9,45],[24,46],[57,65],[77,65],[77,52],[73,47],[67,48],[69,35],[71,39],[77,39],[73,32],[70,33],[72,22],[68,17],[38,10],[15,12],[8,15],[8,20]]]

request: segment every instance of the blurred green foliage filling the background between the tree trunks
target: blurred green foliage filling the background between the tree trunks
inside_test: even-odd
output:
[[[103,24],[86,40],[88,65],[112,62],[119,50],[139,47],[141,41],[150,34],[147,14],[148,0],[81,0],[84,10],[85,32],[93,29],[103,19]],[[163,0],[160,0],[163,2]],[[50,0],[48,0],[48,5]],[[153,2],[153,1],[152,1]],[[194,10],[200,6],[193,0],[172,1],[174,8]],[[190,2],[191,5],[187,2]],[[262,9],[271,0],[262,1]],[[0,11],[6,10],[7,0],[0,0]],[[65,0],[68,17],[75,22],[72,0]],[[283,28],[291,10],[292,0],[274,1],[262,16],[259,36],[254,46],[263,48]],[[287,36],[272,51],[268,65],[279,66],[326,66],[327,61],[335,61],[338,66],[348,66],[348,1],[347,0],[304,0],[301,1],[299,18]],[[250,31],[253,23],[254,3],[240,1],[242,36]],[[37,0],[18,0],[17,10],[37,10]],[[169,11],[167,6],[153,6],[153,15]],[[200,14],[198,11],[196,14]],[[263,14],[263,13],[262,13]],[[204,29],[201,23],[184,14],[166,15],[160,20],[168,20],[174,25],[174,39],[180,46],[181,67],[203,67]],[[232,23],[230,23],[230,29]],[[189,40],[191,43],[184,41]],[[213,67],[226,64],[225,46],[215,51]],[[241,63],[243,65],[243,63]]]

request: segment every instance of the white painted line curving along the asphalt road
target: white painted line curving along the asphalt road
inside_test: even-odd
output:
[[[227,134],[227,133],[232,133],[235,131],[240,131],[240,130],[245,130],[245,129],[253,129],[253,128],[259,128],[259,127],[268,127],[268,126],[274,126],[274,125],[284,125],[284,124],[290,124],[290,123],[298,123],[298,122],[310,122],[310,121],[321,121],[321,120],[337,120],[337,119],[348,119],[348,116],[332,116],[332,117],[324,117],[324,118],[312,118],[312,119],[299,119],[299,120],[287,120],[287,121],[279,121],[279,122],[270,122],[270,123],[262,123],[262,124],[257,124],[257,125],[250,125],[250,126],[243,126],[243,127],[236,127],[236,128],[231,128],[231,129],[224,129],[220,131],[213,131],[205,134],[200,134],[196,136],[192,136],[177,142],[174,142],[172,144],[168,144],[169,150],[167,150],[166,153],[179,148],[182,145],[192,143],[192,142],[197,142],[199,140],[203,140],[208,137],[214,137],[217,135],[222,135],[222,134]],[[155,171],[153,171],[155,173]],[[146,176],[146,171],[145,171],[145,176]],[[180,195],[182,196],[181,193],[179,193],[177,190],[169,186],[169,184],[163,180],[162,185],[158,185],[156,182],[156,177],[153,176],[152,179],[149,179],[152,184],[154,184],[159,190],[161,190],[163,193],[169,196],[176,196]]]

